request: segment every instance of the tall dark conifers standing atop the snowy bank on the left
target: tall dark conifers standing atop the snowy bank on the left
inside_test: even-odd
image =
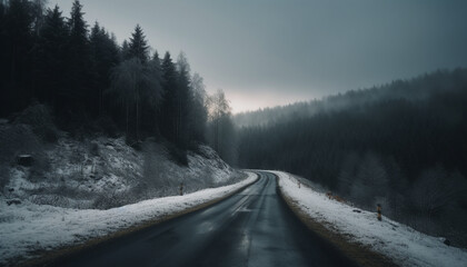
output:
[[[132,145],[157,137],[175,145],[181,161],[187,149],[213,141],[207,130],[230,109],[208,113],[218,97],[207,96],[183,53],[151,53],[140,26],[120,46],[98,22],[89,27],[79,1],[68,18],[46,2],[0,1],[0,117],[46,105],[71,134],[125,132]]]

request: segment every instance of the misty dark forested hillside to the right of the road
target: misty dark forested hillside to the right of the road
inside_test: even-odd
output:
[[[311,113],[242,128],[239,164],[304,176],[370,210],[382,204],[466,246],[466,103],[467,69],[329,97],[308,103]]]

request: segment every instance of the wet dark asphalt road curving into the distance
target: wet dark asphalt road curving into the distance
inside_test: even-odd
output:
[[[53,266],[355,266],[308,230],[260,179],[208,208],[73,255]]]

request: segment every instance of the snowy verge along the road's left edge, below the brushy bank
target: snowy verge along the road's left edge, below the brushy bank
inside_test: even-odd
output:
[[[156,198],[108,210],[69,209],[31,202],[8,206],[2,201],[0,265],[8,264],[11,258],[31,257],[30,254],[38,249],[79,244],[221,198],[256,180],[256,174],[247,174],[245,180],[230,186]]]

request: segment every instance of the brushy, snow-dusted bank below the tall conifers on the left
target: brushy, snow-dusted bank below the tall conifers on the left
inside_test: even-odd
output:
[[[10,123],[0,126],[0,140],[1,201],[107,209],[178,195],[180,184],[185,192],[192,192],[245,178],[207,146],[189,151],[183,166],[155,141],[133,149],[122,137],[77,140],[62,134],[57,142],[44,145],[29,126]],[[9,144],[14,144],[11,151]],[[21,155],[32,158],[30,166],[18,162]]]

